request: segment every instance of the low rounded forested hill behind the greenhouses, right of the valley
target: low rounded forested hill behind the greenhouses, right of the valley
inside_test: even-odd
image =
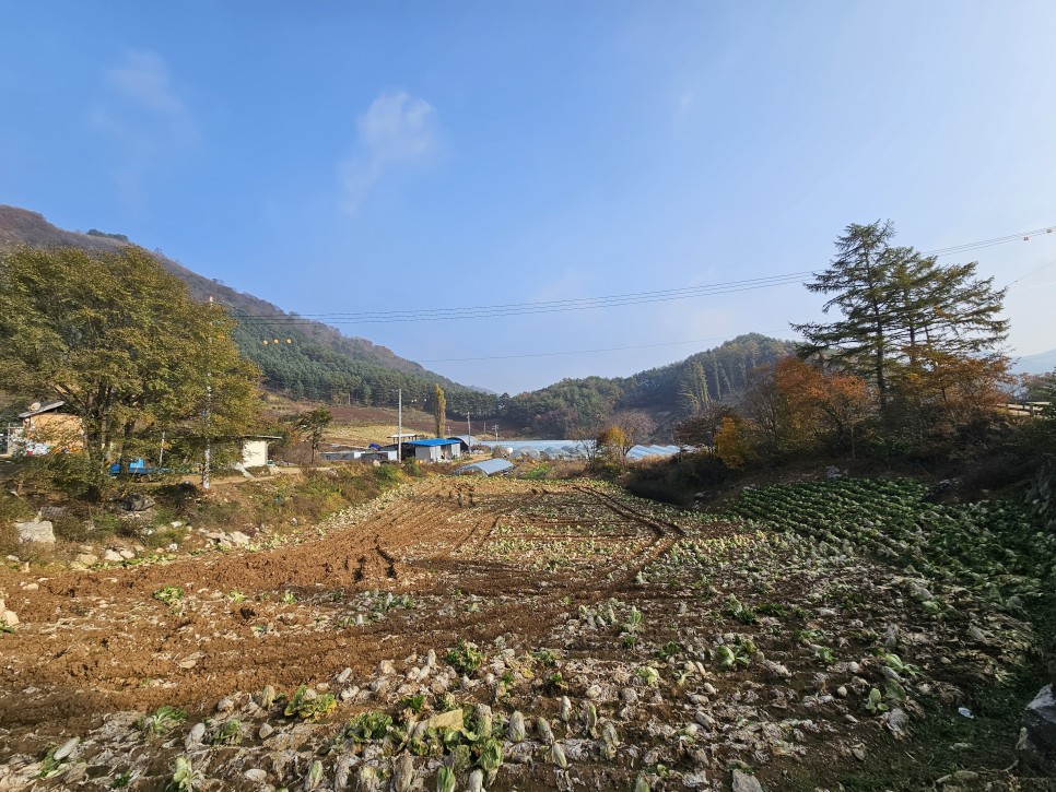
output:
[[[790,341],[739,335],[680,363],[630,377],[564,379],[521,393],[503,404],[504,417],[526,434],[567,437],[598,426],[614,412],[641,410],[656,422],[656,437],[668,439],[673,424],[703,402],[735,398],[753,368],[794,351]]]

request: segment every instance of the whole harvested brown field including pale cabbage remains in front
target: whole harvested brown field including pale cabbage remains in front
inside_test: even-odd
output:
[[[300,543],[258,541],[0,571],[21,620],[0,634],[0,790],[160,790],[177,757],[195,789],[434,789],[442,763],[462,789],[484,721],[504,757],[489,789],[729,789],[741,770],[835,789],[941,711],[947,744],[913,747],[934,780],[951,742],[963,767],[982,758],[957,708],[1030,642],[966,591],[949,595],[963,618],[927,620],[902,570],[597,485],[431,478]],[[320,718],[283,714],[302,685]],[[163,706],[186,720],[143,722]],[[425,729],[458,707],[462,754]],[[369,711],[387,733],[350,724]]]

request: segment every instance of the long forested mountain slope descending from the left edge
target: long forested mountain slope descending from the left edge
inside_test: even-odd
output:
[[[94,228],[85,234],[64,230],[37,212],[0,204],[0,249],[72,245],[113,251],[129,244],[122,234]],[[187,269],[161,250],[151,252],[187,283],[195,298],[212,296],[239,319],[235,335],[242,353],[260,366],[266,387],[277,392],[295,399],[389,405],[396,401],[397,389],[403,388],[406,400],[424,405],[438,382],[445,390],[448,411],[465,414],[468,409],[481,415],[495,411],[494,394],[483,389],[453,382],[366,339],[349,338],[329,326],[286,314],[271,303]],[[282,343],[265,345],[266,339],[280,339]],[[291,343],[285,343],[286,339]]]

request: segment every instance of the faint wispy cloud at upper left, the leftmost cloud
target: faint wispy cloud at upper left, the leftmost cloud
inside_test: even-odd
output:
[[[128,52],[124,62],[104,72],[102,98],[87,120],[113,144],[114,177],[131,199],[138,199],[152,169],[199,138],[165,61],[145,50]]]

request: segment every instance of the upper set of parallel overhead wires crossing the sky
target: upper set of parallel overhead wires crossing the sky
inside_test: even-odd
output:
[[[924,251],[926,256],[950,256],[970,250],[1006,245],[1017,240],[1029,240],[1033,236],[1053,234],[1056,227],[1039,228],[1034,230],[1009,234],[974,243],[964,243],[935,250]],[[752,277],[740,281],[684,286],[681,288],[657,289],[652,292],[631,292],[601,297],[578,297],[556,299],[539,303],[506,303],[490,306],[471,306],[462,308],[418,308],[386,311],[357,311],[342,314],[298,314],[296,316],[260,316],[236,311],[235,316],[242,322],[253,326],[261,324],[315,324],[320,321],[327,324],[387,324],[421,321],[451,321],[459,319],[492,319],[513,316],[533,316],[587,310],[594,308],[613,308],[630,305],[647,305],[650,303],[667,303],[672,300],[692,299],[720,294],[749,292],[774,286],[797,283],[806,275],[813,274],[811,270],[786,272],[764,277]],[[681,342],[680,342],[681,343]]]

